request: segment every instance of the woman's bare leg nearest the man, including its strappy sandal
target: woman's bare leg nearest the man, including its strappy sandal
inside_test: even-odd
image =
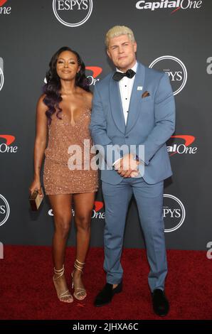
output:
[[[73,195],[75,206],[75,224],[77,228],[76,235],[76,262],[73,271],[73,284],[75,287],[75,296],[78,299],[84,299],[86,291],[81,279],[83,264],[90,244],[90,220],[92,208],[95,201],[95,193],[79,193]],[[77,266],[77,267],[76,267]]]

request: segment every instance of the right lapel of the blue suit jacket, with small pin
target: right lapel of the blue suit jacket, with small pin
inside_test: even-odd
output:
[[[126,131],[127,134],[134,124],[137,122],[139,112],[141,110],[142,92],[144,92],[144,78],[145,68],[144,65],[138,63],[137,72],[134,78],[134,85],[132,87],[132,95],[129,102],[129,113],[127,117]],[[137,87],[143,87],[143,90],[137,90]]]

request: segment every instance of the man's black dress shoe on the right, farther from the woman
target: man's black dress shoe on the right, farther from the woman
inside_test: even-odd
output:
[[[169,312],[169,301],[164,291],[155,289],[152,293],[152,306],[157,316],[164,317]]]

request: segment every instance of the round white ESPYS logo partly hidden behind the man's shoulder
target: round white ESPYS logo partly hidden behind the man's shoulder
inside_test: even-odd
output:
[[[188,75],[186,66],[179,58],[173,55],[162,55],[153,60],[149,68],[155,68],[169,75],[174,95],[179,94],[179,92],[184,89]]]

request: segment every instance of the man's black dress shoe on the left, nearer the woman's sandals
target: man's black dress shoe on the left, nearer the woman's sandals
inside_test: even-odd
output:
[[[112,284],[106,283],[102,291],[97,294],[95,298],[95,306],[103,306],[112,301],[112,297],[115,293],[122,292],[122,281],[117,285],[115,289],[112,289]]]

